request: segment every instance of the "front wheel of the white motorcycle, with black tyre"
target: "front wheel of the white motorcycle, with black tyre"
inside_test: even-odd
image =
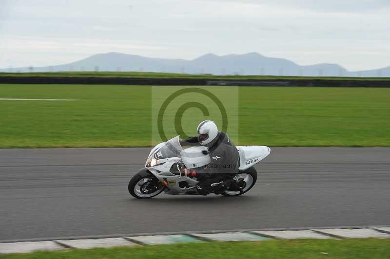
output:
[[[136,174],[129,182],[129,193],[137,199],[147,199],[155,197],[164,190],[162,185],[155,176],[141,176]]]

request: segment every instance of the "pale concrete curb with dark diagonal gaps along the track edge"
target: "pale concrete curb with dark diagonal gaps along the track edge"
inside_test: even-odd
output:
[[[207,232],[207,231],[204,231]],[[0,254],[29,253],[38,250],[90,249],[96,247],[138,246],[207,241],[264,241],[272,239],[390,238],[390,227],[324,228],[299,230],[220,231],[167,235],[121,236],[73,240],[0,242]]]

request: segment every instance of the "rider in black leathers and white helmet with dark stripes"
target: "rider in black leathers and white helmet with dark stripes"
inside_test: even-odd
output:
[[[230,180],[238,172],[237,148],[225,132],[218,131],[214,121],[202,121],[196,131],[197,137],[181,140],[180,144],[182,146],[202,145],[209,149],[212,162],[202,172],[197,172],[200,178],[197,185],[198,193],[202,195],[211,192],[221,193],[234,183]]]

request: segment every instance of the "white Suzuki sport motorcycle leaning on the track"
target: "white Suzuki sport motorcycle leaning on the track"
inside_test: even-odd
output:
[[[239,154],[239,171],[232,180],[235,181],[235,188],[227,187],[218,193],[224,196],[239,196],[249,191],[257,180],[254,165],[271,153],[271,148],[266,146],[236,148]],[[152,198],[163,191],[172,195],[198,195],[196,185],[199,181],[190,172],[201,170],[210,163],[208,148],[199,146],[183,149],[179,136],[176,136],[152,148],[145,167],[130,180],[129,193],[137,199]]]

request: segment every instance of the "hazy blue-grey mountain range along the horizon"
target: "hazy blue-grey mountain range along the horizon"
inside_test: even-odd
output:
[[[350,72],[337,64],[323,63],[300,66],[288,59],[267,57],[258,53],[226,56],[206,54],[193,60],[185,60],[150,58],[110,52],[65,65],[13,68],[12,71],[143,71],[216,75],[390,76],[390,67]],[[0,69],[0,72],[10,72],[10,69]]]

